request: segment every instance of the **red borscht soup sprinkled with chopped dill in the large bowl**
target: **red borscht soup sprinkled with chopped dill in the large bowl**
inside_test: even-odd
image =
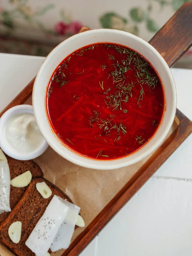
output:
[[[164,103],[151,64],[111,43],[71,53],[55,69],[46,96],[58,138],[73,151],[100,160],[124,157],[147,143],[158,129]]]

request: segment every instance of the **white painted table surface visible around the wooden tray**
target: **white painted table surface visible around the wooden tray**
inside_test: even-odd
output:
[[[35,77],[44,58],[0,53],[0,111]],[[192,70],[172,69],[177,108],[192,120]],[[80,256],[192,255],[192,135]]]

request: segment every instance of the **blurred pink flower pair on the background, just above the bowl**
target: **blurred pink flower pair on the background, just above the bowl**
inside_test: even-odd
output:
[[[55,25],[55,32],[59,35],[74,35],[77,34],[82,27],[81,22],[73,21],[69,24],[66,24],[64,22],[58,22]]]

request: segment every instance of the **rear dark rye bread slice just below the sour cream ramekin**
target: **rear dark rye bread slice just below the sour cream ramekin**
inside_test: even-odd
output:
[[[28,161],[21,161],[21,160],[16,160],[13,159],[12,157],[6,155],[7,161],[9,164],[9,169],[10,169],[10,176],[11,179],[17,177],[18,175],[30,171],[32,173],[32,179],[36,178],[41,178],[43,177],[43,172],[41,168],[33,161],[33,160],[28,160]],[[21,197],[24,195],[25,190],[27,187],[24,188],[15,188],[12,187],[10,188],[10,207],[11,210],[16,206],[16,204],[19,202]],[[0,224],[5,221],[5,219],[8,217],[10,212],[4,212],[0,214]]]

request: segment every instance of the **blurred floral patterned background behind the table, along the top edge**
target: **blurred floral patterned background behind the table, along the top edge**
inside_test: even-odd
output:
[[[83,25],[120,29],[149,41],[185,2],[0,0],[0,52],[46,56]]]

